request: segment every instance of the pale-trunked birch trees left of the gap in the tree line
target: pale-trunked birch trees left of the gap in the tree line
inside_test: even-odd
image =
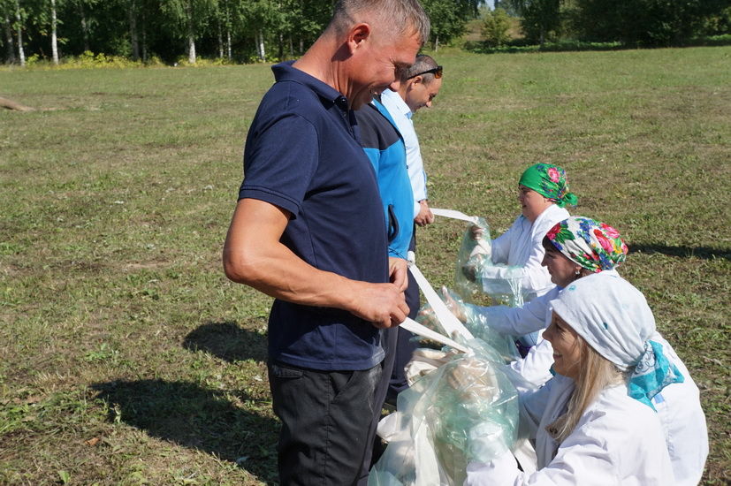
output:
[[[423,0],[436,49],[464,32],[480,0]],[[172,63],[300,56],[331,18],[333,0],[0,0],[0,58],[58,64],[84,52]]]

